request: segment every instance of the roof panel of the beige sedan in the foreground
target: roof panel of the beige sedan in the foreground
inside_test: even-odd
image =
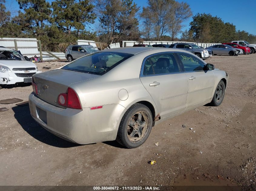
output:
[[[128,53],[128,54],[138,54],[145,51],[150,50],[158,50],[159,52],[185,52],[188,53],[188,51],[182,50],[182,49],[175,49],[175,48],[159,48],[159,47],[123,47],[123,48],[111,48],[111,49],[105,49],[101,50],[100,52],[118,52],[118,53]],[[161,50],[161,51],[160,51]],[[150,51],[151,52],[151,51]],[[189,52],[190,53],[190,52]]]

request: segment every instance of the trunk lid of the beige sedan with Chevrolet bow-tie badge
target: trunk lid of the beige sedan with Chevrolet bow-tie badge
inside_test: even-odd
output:
[[[65,108],[58,104],[58,95],[66,93],[68,86],[80,81],[97,78],[98,75],[75,72],[65,69],[51,70],[33,76],[37,85],[38,97],[47,103]]]

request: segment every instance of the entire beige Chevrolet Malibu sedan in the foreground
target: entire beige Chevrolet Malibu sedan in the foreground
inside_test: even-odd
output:
[[[32,117],[70,142],[142,145],[151,128],[223,101],[228,74],[181,49],[127,47],[86,55],[35,74]]]

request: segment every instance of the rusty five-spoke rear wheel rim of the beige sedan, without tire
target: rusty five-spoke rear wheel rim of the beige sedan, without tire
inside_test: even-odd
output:
[[[127,126],[127,134],[132,142],[140,141],[148,130],[148,118],[143,111],[135,113]]]

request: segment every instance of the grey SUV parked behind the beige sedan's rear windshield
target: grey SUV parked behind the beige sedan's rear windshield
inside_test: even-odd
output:
[[[68,62],[71,62],[74,59],[78,59],[87,54],[98,52],[99,50],[91,45],[70,45],[65,49],[65,57],[68,59]]]

